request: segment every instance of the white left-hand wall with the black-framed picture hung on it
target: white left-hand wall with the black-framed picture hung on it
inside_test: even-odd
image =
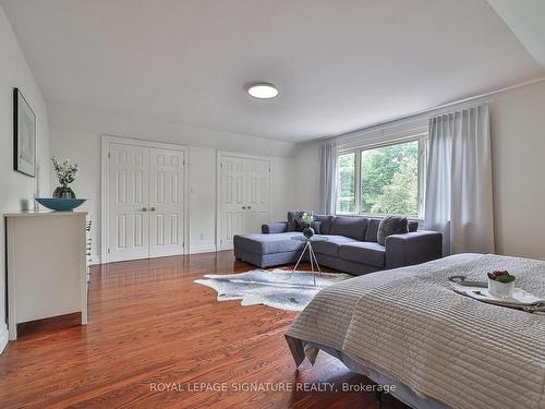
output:
[[[17,212],[21,201],[32,208],[36,193],[35,178],[13,170],[13,88],[21,89],[36,113],[37,165],[40,193],[49,192],[49,124],[46,103],[5,14],[0,7],[0,213]],[[0,224],[0,351],[5,318],[4,222]]]

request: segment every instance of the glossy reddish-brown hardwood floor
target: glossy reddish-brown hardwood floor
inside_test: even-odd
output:
[[[323,352],[296,370],[283,339],[295,313],[193,284],[251,268],[232,252],[94,267],[87,326],[33,332],[0,356],[0,408],[375,408],[372,393],[235,390],[370,383]],[[207,387],[228,390],[194,390]]]

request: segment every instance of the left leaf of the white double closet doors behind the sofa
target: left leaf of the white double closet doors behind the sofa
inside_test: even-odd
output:
[[[233,236],[246,231],[246,159],[222,156],[220,166],[219,246],[232,249]]]

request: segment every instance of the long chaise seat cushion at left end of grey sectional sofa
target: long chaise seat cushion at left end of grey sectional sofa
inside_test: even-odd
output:
[[[255,254],[274,254],[303,250],[304,241],[291,240],[296,232],[274,234],[238,234],[234,236],[234,245]]]

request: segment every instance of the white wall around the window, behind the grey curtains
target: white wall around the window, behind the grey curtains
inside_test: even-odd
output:
[[[496,252],[545,258],[545,81],[481,100],[487,100],[491,109]],[[433,113],[391,124],[420,121]],[[319,208],[319,144],[307,143],[299,149],[298,208]]]

